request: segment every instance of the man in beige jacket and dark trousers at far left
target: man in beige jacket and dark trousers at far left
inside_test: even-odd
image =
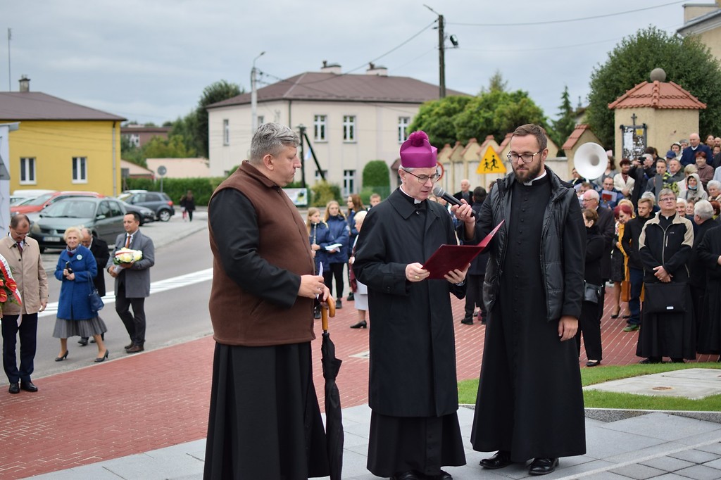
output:
[[[37,391],[32,383],[35,342],[37,338],[37,313],[48,305],[48,276],[40,259],[40,246],[27,236],[30,221],[18,213],[10,221],[9,236],[0,239],[0,254],[10,265],[17,283],[22,306],[7,301],[2,306],[2,363],[10,382],[8,391],[19,394]],[[22,315],[22,318],[20,317]],[[17,368],[15,345],[20,336],[20,368]]]

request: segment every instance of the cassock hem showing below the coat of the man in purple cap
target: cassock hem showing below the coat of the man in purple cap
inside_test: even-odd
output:
[[[466,464],[456,412],[442,417],[389,417],[371,412],[368,471],[393,476],[415,470],[438,475],[442,466]]]

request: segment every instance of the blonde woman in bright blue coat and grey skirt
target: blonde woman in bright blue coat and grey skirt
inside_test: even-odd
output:
[[[108,355],[105,342],[102,341],[102,334],[107,332],[107,327],[97,311],[92,310],[89,299],[94,288],[93,278],[97,275],[97,262],[92,252],[80,244],[79,227],[68,228],[63,239],[67,247],[60,254],[55,269],[55,277],[63,283],[53,331],[53,337],[60,339],[60,355],[55,361],[61,362],[68,357],[68,337],[77,335],[95,339],[95,361],[102,362]]]

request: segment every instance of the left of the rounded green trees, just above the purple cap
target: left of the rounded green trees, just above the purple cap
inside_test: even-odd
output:
[[[464,110],[473,97],[451,96],[425,102],[408,128],[409,132],[423,130],[430,144],[441,148],[456,143],[454,117]]]

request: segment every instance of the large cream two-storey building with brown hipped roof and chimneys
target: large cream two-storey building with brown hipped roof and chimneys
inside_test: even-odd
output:
[[[338,66],[306,72],[257,91],[258,124],[277,122],[298,131],[305,125],[326,179],[342,195],[361,191],[363,167],[371,160],[389,166],[398,158],[407,127],[423,102],[438,98],[438,86],[388,76],[372,66],[366,74],[341,74]],[[448,95],[465,95],[447,91]],[[251,99],[245,93],[208,106],[211,175],[224,175],[249,156]],[[307,151],[307,147],[306,147]],[[306,184],[320,179],[304,159]],[[396,175],[391,174],[392,182]],[[296,173],[296,181],[301,172]],[[392,185],[394,187],[394,185]]]

